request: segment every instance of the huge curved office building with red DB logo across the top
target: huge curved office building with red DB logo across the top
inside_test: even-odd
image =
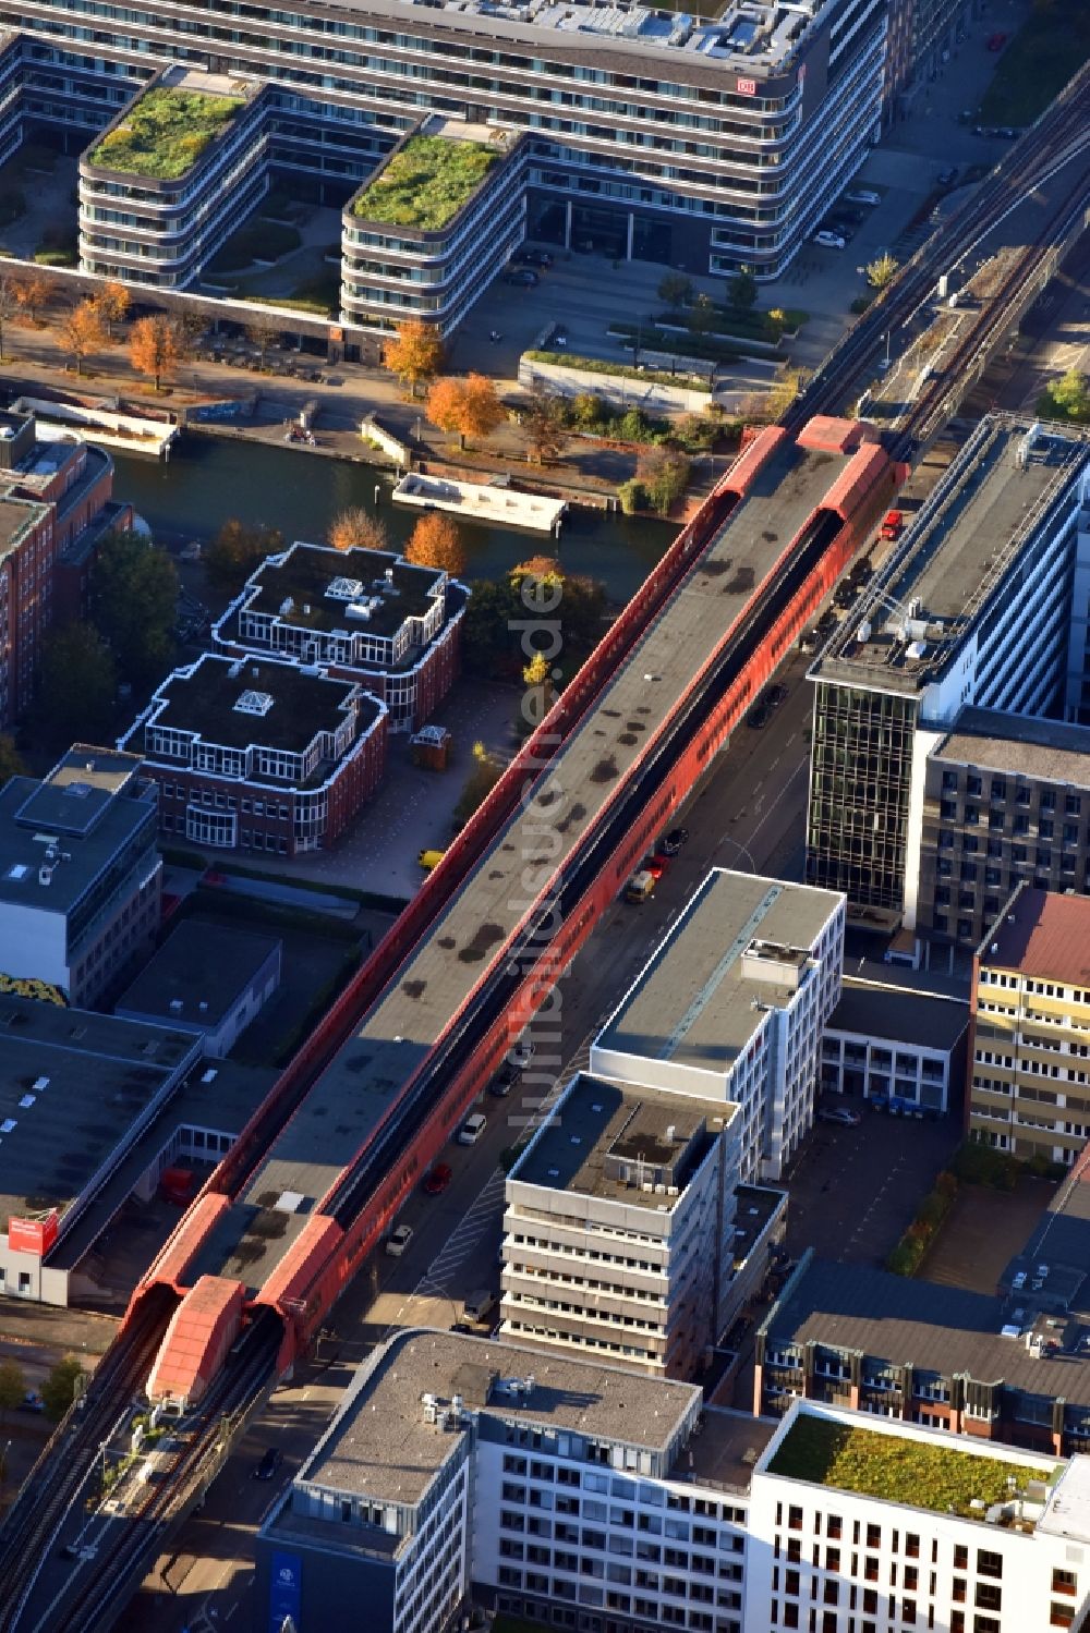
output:
[[[878,134],[887,16],[886,0],[730,0],[716,18],[632,0],[0,5],[28,122],[101,131],[150,65],[199,59],[268,82],[270,158],[327,202],[423,116],[454,116],[529,137],[533,237],[758,278],[783,271]]]

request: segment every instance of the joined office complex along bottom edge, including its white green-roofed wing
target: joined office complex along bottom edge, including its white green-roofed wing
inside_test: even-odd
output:
[[[1044,1633],[1090,1586],[1090,1463],[410,1331],[358,1373],[257,1538],[255,1633]],[[907,1468],[907,1471],[905,1471]]]

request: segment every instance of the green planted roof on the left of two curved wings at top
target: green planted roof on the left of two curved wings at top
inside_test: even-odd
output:
[[[250,87],[226,75],[170,69],[90,147],[100,170],[178,181],[245,108]]]

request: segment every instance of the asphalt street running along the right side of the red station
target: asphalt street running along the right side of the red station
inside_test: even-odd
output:
[[[623,996],[713,865],[801,877],[806,810],[806,751],[811,691],[806,660],[793,655],[780,673],[788,697],[762,730],[739,727],[711,776],[690,800],[681,821],[690,843],[641,906],[614,903],[561,985],[552,1029],[538,1022],[533,1071],[549,1075],[541,1088],[497,1101],[484,1096],[489,1117],[474,1146],[451,1145],[444,1159],[453,1181],[441,1197],[413,1194],[400,1220],[413,1226],[404,1257],[377,1253],[330,1316],[335,1337],[319,1344],[320,1359],[299,1368],[278,1390],[243,1437],[204,1511],[194,1515],[149,1574],[126,1617],[127,1633],[209,1633],[237,1617],[250,1620],[252,1537],[276,1493],[296,1471],[332,1414],[355,1365],[392,1326],[449,1326],[462,1300],[479,1287],[498,1287],[503,1204],[500,1156],[526,1132],[543,1089],[564,1084],[587,1066],[592,1037]],[[556,1022],[559,1021],[559,1027]],[[271,1483],[253,1478],[261,1450],[276,1444],[284,1463]]]

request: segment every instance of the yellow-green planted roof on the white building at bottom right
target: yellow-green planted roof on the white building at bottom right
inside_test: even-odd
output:
[[[974,1457],[909,1435],[850,1429],[802,1414],[768,1465],[768,1473],[972,1519],[981,1515],[979,1509],[969,1507],[974,1499],[1005,1502],[1008,1479],[1013,1476],[1025,1486],[1030,1471],[997,1457]]]

